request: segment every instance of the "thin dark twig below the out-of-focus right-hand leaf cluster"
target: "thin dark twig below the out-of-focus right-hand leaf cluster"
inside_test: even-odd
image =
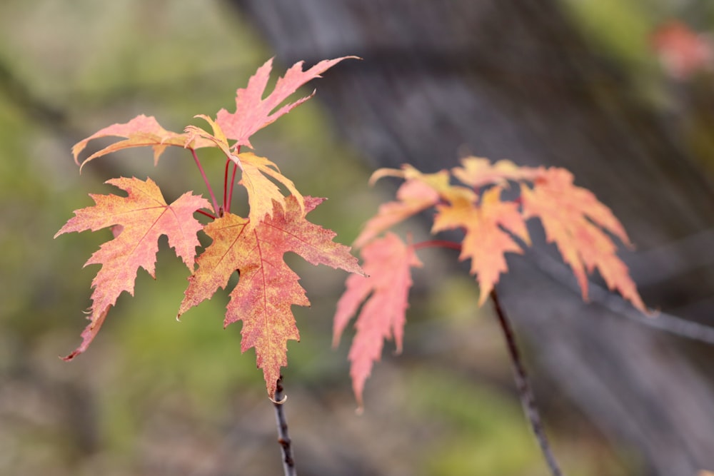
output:
[[[540,445],[540,451],[543,452],[545,461],[548,462],[550,473],[553,476],[563,476],[563,472],[560,471],[558,462],[555,460],[555,455],[553,455],[553,451],[550,450],[550,444],[548,444],[548,437],[545,436],[545,431],[543,430],[543,422],[540,420],[538,407],[535,406],[533,390],[531,390],[531,385],[528,384],[528,375],[526,375],[526,369],[523,368],[523,363],[521,362],[521,353],[518,351],[518,345],[516,345],[516,336],[513,335],[511,323],[508,321],[506,313],[503,312],[503,308],[501,308],[501,301],[498,300],[496,290],[491,291],[491,300],[493,300],[493,307],[496,309],[498,323],[501,324],[503,336],[506,338],[508,353],[511,355],[513,374],[516,380],[516,387],[518,388],[518,397],[521,398],[521,405],[523,405],[523,411],[526,412],[526,416],[531,422],[531,430],[533,430],[535,439],[538,440],[538,445]]]

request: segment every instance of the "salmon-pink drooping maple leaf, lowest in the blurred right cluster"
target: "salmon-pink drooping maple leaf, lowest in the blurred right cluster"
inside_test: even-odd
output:
[[[412,285],[411,268],[422,265],[413,246],[394,233],[372,241],[361,254],[362,268],[368,277],[353,274],[347,278],[347,289],[337,303],[333,330],[333,347],[336,347],[347,323],[364,302],[348,355],[352,388],[360,408],[363,407],[364,384],[374,363],[381,358],[384,340],[393,338],[396,352],[401,353]]]

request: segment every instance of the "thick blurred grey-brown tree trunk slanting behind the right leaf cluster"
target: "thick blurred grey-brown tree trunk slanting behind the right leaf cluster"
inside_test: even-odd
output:
[[[372,166],[436,171],[461,151],[568,168],[638,244],[625,260],[645,302],[711,318],[710,179],[554,0],[230,3],[283,64],[364,59],[330,71],[318,98]],[[637,448],[644,473],[714,468],[714,392],[683,355],[690,341],[584,304],[559,270],[545,272],[549,250],[511,260],[499,287],[538,364],[595,425]]]

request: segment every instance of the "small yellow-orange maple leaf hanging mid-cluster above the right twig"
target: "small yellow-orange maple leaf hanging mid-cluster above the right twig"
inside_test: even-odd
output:
[[[523,253],[521,246],[503,229],[531,244],[518,205],[501,201],[502,190],[500,186],[490,188],[478,204],[460,202],[437,206],[431,229],[432,233],[453,228],[466,230],[459,260],[471,258],[471,274],[477,275],[481,289],[478,305],[486,302],[501,273],[508,270],[503,254]]]

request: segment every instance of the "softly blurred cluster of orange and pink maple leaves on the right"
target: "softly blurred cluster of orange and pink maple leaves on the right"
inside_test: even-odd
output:
[[[334,322],[333,345],[339,343],[353,315],[356,335],[348,358],[353,390],[359,405],[366,379],[379,360],[383,341],[393,340],[401,352],[403,327],[411,287],[411,268],[421,267],[418,248],[442,246],[461,250],[460,260],[471,260],[471,274],[480,289],[479,305],[506,273],[505,253],[522,253],[530,245],[526,221],[539,218],[548,242],[555,243],[563,260],[578,280],[583,298],[588,298],[588,273],[596,269],[610,290],[617,290],[645,312],[628,268],[615,255],[611,233],[623,243],[630,240],[608,207],[585,188],[573,184],[573,175],[563,168],[518,167],[511,161],[491,163],[485,158],[464,158],[461,167],[438,173],[421,173],[412,166],[401,170],[381,169],[371,181],[384,176],[402,178],[396,201],[384,203],[355,240],[361,248],[363,269],[369,276],[351,275],[339,300]],[[454,185],[451,178],[461,185]],[[505,188],[516,183],[518,198],[504,201]],[[461,243],[433,240],[413,244],[389,228],[433,208],[431,233],[461,229]]]

